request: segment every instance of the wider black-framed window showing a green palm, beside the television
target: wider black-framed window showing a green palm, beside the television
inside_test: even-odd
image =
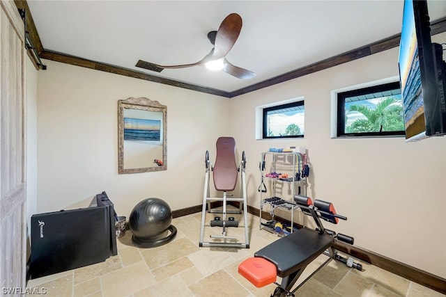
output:
[[[337,94],[337,136],[403,136],[399,82]]]

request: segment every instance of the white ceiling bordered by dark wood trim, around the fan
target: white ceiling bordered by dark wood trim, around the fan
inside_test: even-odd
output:
[[[401,33],[402,0],[392,1],[43,1],[28,0],[43,47],[71,56],[231,92]],[[431,21],[446,1],[429,0]],[[207,34],[230,13],[243,28],[226,58],[256,73],[242,80],[195,63],[213,45]],[[397,63],[397,61],[395,61]]]

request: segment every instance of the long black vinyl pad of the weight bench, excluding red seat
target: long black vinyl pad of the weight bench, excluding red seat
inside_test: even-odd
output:
[[[315,230],[302,228],[284,236],[254,254],[275,264],[281,278],[305,268],[318,255],[334,244],[334,238]]]

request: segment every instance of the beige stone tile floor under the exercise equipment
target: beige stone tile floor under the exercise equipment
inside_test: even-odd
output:
[[[208,223],[215,214],[206,214]],[[237,216],[232,215],[231,216]],[[243,218],[240,215],[240,225]],[[232,296],[268,297],[274,284],[256,288],[238,274],[238,264],[252,257],[256,250],[278,239],[274,234],[259,230],[259,218],[249,214],[249,249],[199,248],[201,213],[174,218],[178,234],[174,241],[157,248],[135,248],[132,234],[117,239],[118,255],[107,261],[72,271],[29,280],[29,291],[45,291],[45,296]],[[206,227],[209,234],[220,234],[221,227]],[[243,241],[243,227],[230,228],[228,235]],[[321,255],[307,266],[300,280],[311,274],[327,259]],[[332,261],[318,271],[298,291],[296,296],[358,296],[358,297],[436,297],[436,291],[410,282],[376,266],[362,263],[363,271]],[[278,280],[280,282],[280,280]],[[299,282],[298,282],[299,283]],[[297,285],[297,284],[296,284]],[[40,291],[38,291],[40,289]],[[37,296],[37,294],[36,294]]]

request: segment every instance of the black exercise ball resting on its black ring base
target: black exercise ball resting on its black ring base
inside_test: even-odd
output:
[[[168,243],[176,236],[176,228],[171,222],[172,211],[164,200],[142,200],[133,208],[128,220],[133,243],[143,248]]]

